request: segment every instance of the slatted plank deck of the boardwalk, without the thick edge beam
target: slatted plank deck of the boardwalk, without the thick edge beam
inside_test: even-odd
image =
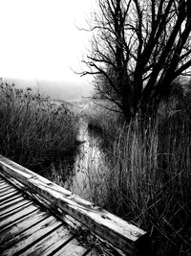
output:
[[[0,177],[0,255],[96,255],[64,221]]]

